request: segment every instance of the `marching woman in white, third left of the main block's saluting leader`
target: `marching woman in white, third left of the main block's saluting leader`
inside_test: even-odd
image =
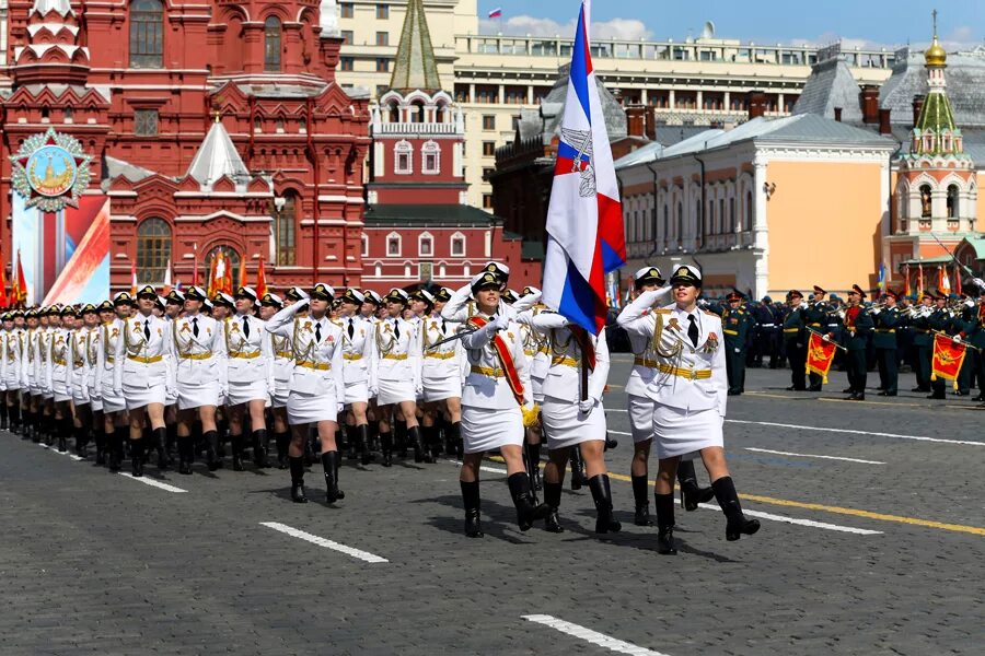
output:
[[[157,301],[154,288],[144,285],[140,289],[137,314],[124,320],[114,353],[113,391],[123,395],[127,402],[130,458],[136,477],[143,476],[144,422],[151,425],[153,444],[162,445],[167,438],[164,402],[167,390],[175,385],[173,342],[167,323],[154,316]]]

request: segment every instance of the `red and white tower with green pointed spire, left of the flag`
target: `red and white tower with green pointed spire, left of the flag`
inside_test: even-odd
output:
[[[540,245],[465,204],[464,117],[438,78],[420,0],[407,3],[390,87],[372,108],[363,284],[455,288],[493,259],[510,267],[511,286],[540,285]]]

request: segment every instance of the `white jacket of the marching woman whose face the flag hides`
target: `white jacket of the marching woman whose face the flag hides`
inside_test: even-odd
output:
[[[582,353],[571,330],[570,321],[559,314],[543,312],[533,318],[533,326],[547,333],[551,365],[544,378],[544,396],[558,401],[577,405],[581,400]],[[595,348],[595,367],[589,372],[587,397],[595,402],[602,400],[609,380],[609,345],[605,330],[595,337],[588,333]]]

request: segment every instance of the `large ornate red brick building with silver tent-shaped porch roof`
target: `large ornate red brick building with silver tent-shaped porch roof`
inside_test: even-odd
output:
[[[335,9],[332,2],[325,3]],[[82,8],[84,7],[84,13]],[[343,89],[337,16],[318,0],[10,0],[0,80],[0,244],[8,156],[49,127],[108,196],[111,284],[188,284],[225,249],[275,288],[361,284],[368,94]]]

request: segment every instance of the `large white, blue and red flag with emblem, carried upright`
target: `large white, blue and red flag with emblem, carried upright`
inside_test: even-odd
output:
[[[626,263],[623,211],[589,47],[583,0],[547,210],[544,303],[598,335],[605,326],[605,274]]]

